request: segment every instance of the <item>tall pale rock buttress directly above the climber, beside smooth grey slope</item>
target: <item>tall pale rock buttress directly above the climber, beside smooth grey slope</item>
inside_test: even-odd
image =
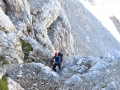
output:
[[[49,52],[62,50],[74,54],[71,26],[59,1],[28,0],[32,14],[32,34]]]

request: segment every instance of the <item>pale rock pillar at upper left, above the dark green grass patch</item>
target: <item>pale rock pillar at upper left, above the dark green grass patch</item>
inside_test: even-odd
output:
[[[32,17],[30,7],[26,0],[4,0],[6,5],[6,14],[9,16],[16,28],[18,36],[28,35],[28,29],[31,26]]]

